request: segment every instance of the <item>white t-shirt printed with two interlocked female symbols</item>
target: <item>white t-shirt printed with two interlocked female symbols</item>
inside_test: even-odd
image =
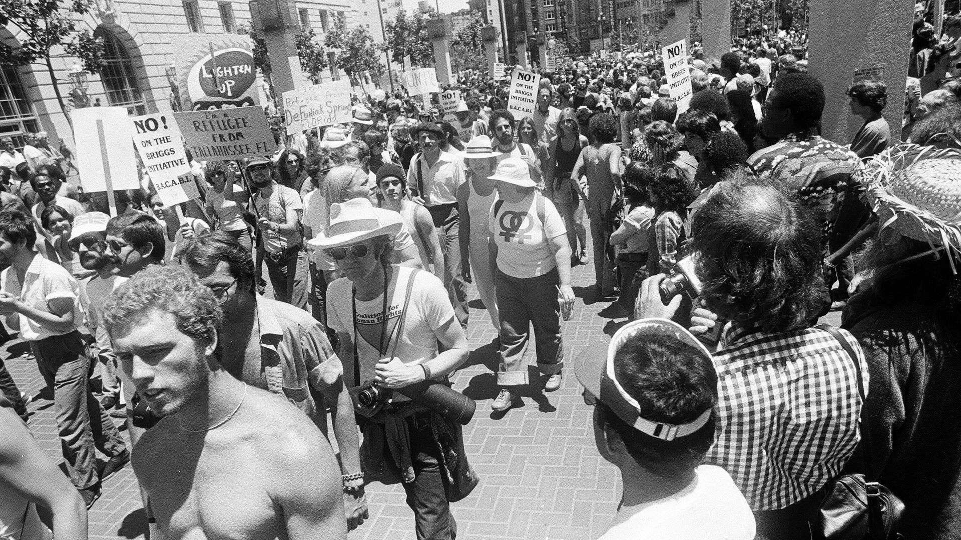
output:
[[[543,222],[537,215],[538,197],[543,200]],[[506,275],[521,279],[554,270],[557,263],[548,240],[567,234],[554,203],[536,191],[519,203],[495,202],[487,230],[497,243],[497,267]]]

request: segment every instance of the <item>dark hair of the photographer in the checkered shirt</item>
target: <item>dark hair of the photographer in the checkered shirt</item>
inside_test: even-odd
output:
[[[765,332],[807,328],[824,305],[821,232],[796,196],[736,178],[691,223],[706,307]]]

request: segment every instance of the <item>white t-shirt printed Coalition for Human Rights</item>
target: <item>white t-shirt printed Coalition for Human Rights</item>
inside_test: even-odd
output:
[[[395,212],[396,213],[396,212]],[[374,378],[374,367],[381,357],[399,357],[406,364],[419,364],[437,356],[435,331],[454,318],[454,307],[448,299],[444,283],[433,274],[407,266],[390,266],[390,284],[387,294],[387,335],[381,339],[383,328],[383,294],[367,302],[353,302],[354,283],[347,278],[334,280],[327,287],[327,325],[334,331],[350,334],[357,344],[360,364],[360,382]],[[407,318],[403,335],[396,336],[397,325],[404,311],[407,281],[413,275],[413,288],[407,304]],[[354,315],[354,306],[357,314]],[[357,324],[355,325],[353,322]],[[360,337],[355,336],[355,328]],[[384,351],[378,351],[381,342]],[[395,348],[396,344],[396,348]],[[348,380],[348,385],[354,385]]]

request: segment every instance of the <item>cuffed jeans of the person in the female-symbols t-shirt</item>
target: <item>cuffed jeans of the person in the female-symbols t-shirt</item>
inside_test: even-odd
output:
[[[545,375],[560,373],[564,347],[560,335],[560,305],[557,303],[557,269],[536,278],[512,278],[497,270],[497,308],[501,315],[500,386],[528,383],[524,353],[530,326],[534,329],[537,368]]]

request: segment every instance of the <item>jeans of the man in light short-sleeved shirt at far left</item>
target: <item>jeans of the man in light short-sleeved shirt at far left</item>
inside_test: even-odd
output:
[[[96,452],[109,457],[127,450],[111,417],[90,392],[90,358],[79,331],[30,342],[37,367],[54,391],[57,429],[70,481],[85,489],[100,481]]]

